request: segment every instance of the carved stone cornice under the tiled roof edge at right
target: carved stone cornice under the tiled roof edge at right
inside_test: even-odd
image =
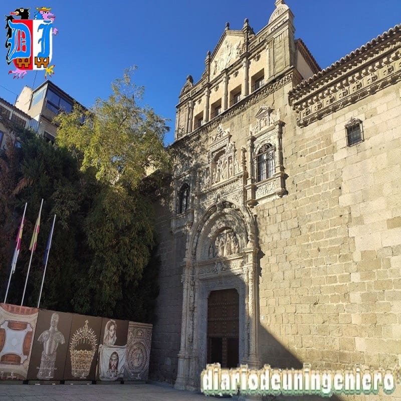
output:
[[[350,53],[289,93],[300,127],[401,80],[401,25]]]

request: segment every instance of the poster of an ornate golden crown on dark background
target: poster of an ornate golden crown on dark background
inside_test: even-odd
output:
[[[64,380],[95,380],[101,317],[73,314]]]

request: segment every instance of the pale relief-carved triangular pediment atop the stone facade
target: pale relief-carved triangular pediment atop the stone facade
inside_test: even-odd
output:
[[[211,56],[211,77],[214,78],[234,64],[241,56],[243,46],[243,32],[226,29]]]

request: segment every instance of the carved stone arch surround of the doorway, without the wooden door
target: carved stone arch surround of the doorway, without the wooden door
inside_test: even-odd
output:
[[[216,239],[230,252],[211,252]],[[230,239],[230,240],[229,240]],[[234,244],[234,245],[233,245]],[[222,249],[223,249],[222,248]],[[222,251],[220,249],[220,251]],[[175,388],[197,390],[207,360],[207,308],[211,291],[235,288],[240,300],[239,360],[259,367],[254,218],[244,205],[218,197],[190,229],[183,265],[181,342]]]

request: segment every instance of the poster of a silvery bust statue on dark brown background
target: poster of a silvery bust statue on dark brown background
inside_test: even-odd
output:
[[[29,380],[63,380],[72,313],[41,309],[36,324]]]

